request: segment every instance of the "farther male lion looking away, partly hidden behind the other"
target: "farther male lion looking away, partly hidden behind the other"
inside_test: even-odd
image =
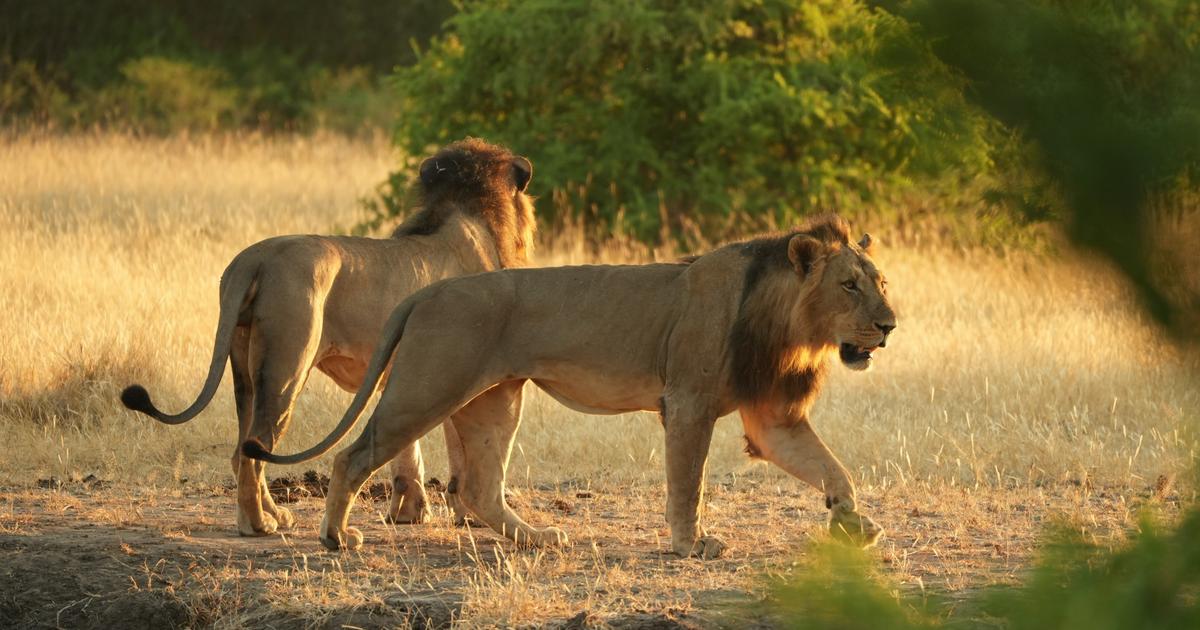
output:
[[[524,157],[466,139],[421,163],[414,190],[418,211],[391,239],[294,235],[247,247],[221,277],[212,362],[196,402],[179,414],[166,414],[140,385],[121,392],[121,401],[158,421],[186,422],[212,400],[228,358],[238,442],[274,445],[287,431],[293,403],[313,367],[342,389],[359,390],[376,338],[401,300],[442,278],[526,264],[535,229],[533,204],[524,193],[532,174]],[[374,391],[380,376],[372,376],[368,391]],[[510,394],[497,391],[462,413],[511,402]],[[450,424],[446,448],[456,475],[461,446]],[[419,446],[408,444],[392,455],[389,517],[424,521],[428,508]],[[266,535],[294,523],[290,512],[271,500],[263,462],[242,458],[235,450],[233,469],[242,535]]]

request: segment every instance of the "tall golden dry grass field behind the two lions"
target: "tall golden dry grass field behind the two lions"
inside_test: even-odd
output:
[[[382,142],[332,137],[0,142],[0,480],[228,479],[228,380],[180,427],[126,412],[118,392],[142,382],[164,408],[190,402],[229,259],[270,235],[354,223],[356,199],[391,163]],[[550,232],[541,264],[648,256]],[[1103,265],[952,248],[878,258],[900,307],[895,341],[868,374],[834,366],[814,410],[864,482],[1141,485],[1195,457],[1184,430],[1200,410],[1195,366]],[[348,402],[310,380],[284,449],[317,440]],[[649,414],[586,416],[534,394],[511,482],[660,481],[661,436]],[[439,442],[426,439],[434,475]],[[719,422],[710,474],[782,479],[742,446],[738,421]]]

